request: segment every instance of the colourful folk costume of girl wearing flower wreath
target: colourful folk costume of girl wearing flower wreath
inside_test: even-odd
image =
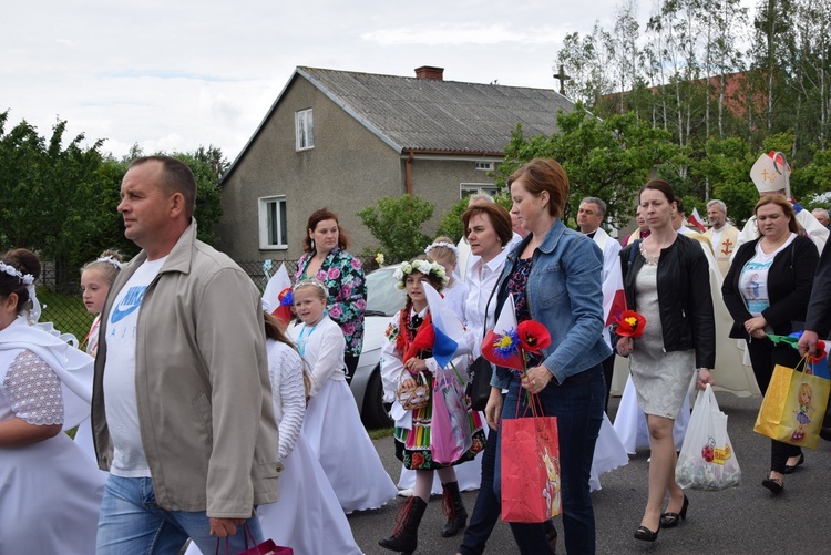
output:
[[[403,326],[403,333],[406,333],[403,340],[404,345],[409,345],[409,342],[416,337],[419,327],[424,321],[424,315],[427,312],[427,309],[424,309],[424,312],[422,314],[416,314],[412,309],[408,310],[409,318],[406,319]],[[402,352],[406,351],[407,348],[404,347],[403,350],[399,348],[399,335],[401,332],[401,311],[399,311],[387,327],[387,341],[384,342],[383,351],[381,353],[381,373],[384,380],[386,399],[392,399],[398,382],[401,379],[409,377],[401,359]],[[423,373],[432,395],[432,372],[439,370],[438,363],[432,358],[432,349],[421,350],[417,357],[427,361],[428,370]],[[393,401],[393,414],[396,413],[396,409],[402,411],[398,400]],[[447,466],[447,464],[433,461],[430,452],[430,423],[433,415],[432,397],[431,402],[427,403],[425,407],[403,412],[406,414],[404,418],[396,420],[396,456],[408,470],[435,470]],[[459,460],[452,463],[452,465],[473,460],[476,456],[476,453],[484,449],[486,440],[484,431],[482,430],[482,419],[479,417],[478,412],[472,412],[470,407],[468,407],[468,422],[473,436],[473,443],[471,448],[459,458]]]

